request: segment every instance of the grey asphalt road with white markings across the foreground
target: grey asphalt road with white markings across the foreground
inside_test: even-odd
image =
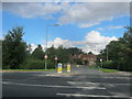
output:
[[[3,73],[2,78],[2,97],[130,98],[130,75],[101,73],[85,66],[62,75]]]

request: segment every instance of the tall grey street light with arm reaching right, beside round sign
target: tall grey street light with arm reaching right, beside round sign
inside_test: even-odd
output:
[[[48,26],[59,26],[61,24],[53,24],[53,25],[46,25],[46,50],[47,50],[47,35],[48,35]],[[45,69],[47,69],[47,53],[45,50]]]

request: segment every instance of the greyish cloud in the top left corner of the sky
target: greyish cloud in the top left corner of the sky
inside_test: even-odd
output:
[[[22,18],[52,18],[53,13],[56,13],[61,10],[61,6],[56,3],[6,2],[3,3],[3,10],[21,15]]]

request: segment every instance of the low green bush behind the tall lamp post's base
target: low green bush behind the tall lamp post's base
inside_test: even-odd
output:
[[[44,69],[45,61],[29,58],[21,66],[21,69]],[[51,61],[47,61],[47,69],[55,68],[55,64]]]

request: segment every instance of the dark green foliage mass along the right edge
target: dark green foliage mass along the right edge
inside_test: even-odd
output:
[[[99,58],[106,62],[107,50],[109,61],[112,63],[103,64],[105,67],[117,68],[120,70],[132,70],[132,28],[125,26],[127,32],[123,37],[118,41],[110,42],[103,51],[101,51]]]

